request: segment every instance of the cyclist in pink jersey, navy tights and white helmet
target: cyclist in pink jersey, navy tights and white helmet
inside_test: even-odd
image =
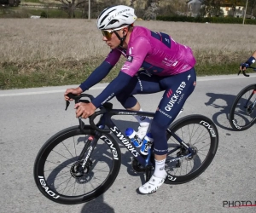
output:
[[[148,182],[139,187],[141,193],[154,193],[167,176],[166,129],[195,89],[195,57],[188,46],[177,43],[166,33],[134,26],[136,19],[134,9],[124,5],[109,7],[102,11],[96,25],[102,31],[102,40],[111,51],[84,83],[78,88],[66,90],[65,100],[69,100],[68,93],[79,95],[105,78],[120,55],[124,55],[126,61],[118,76],[96,96],[95,100],[88,104],[76,104],[77,117],[88,118],[96,108],[114,96],[126,109],[142,111],[133,95],[165,91],[150,127],[154,139],[154,174]],[[150,103],[151,100],[148,100],[148,104]],[[143,134],[146,135],[150,120],[139,117],[137,120],[140,122],[138,131],[144,129]]]

